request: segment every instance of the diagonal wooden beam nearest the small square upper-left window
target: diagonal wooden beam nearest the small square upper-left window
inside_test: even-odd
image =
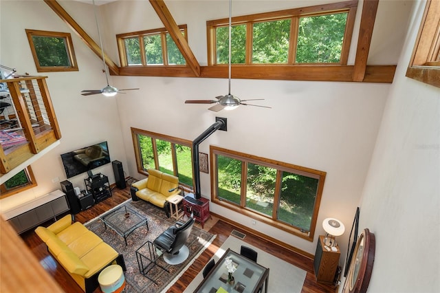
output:
[[[83,28],[76,23],[76,21],[60,6],[56,0],[44,0],[47,6],[52,8],[58,17],[69,25],[69,27],[80,37],[81,40],[90,48],[92,52],[96,54],[102,60],[102,51],[100,46],[83,30]],[[119,67],[116,65],[107,54],[104,53],[104,60],[111,74],[119,75]]]

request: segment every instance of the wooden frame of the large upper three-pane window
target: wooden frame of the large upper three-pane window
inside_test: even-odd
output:
[[[246,45],[245,45],[245,64],[238,66],[305,66],[305,65],[347,65],[349,58],[349,50],[351,46],[351,38],[355,23],[355,14],[358,8],[358,1],[344,1],[338,3],[329,3],[319,6],[308,6],[305,8],[293,8],[289,10],[278,10],[274,12],[263,12],[259,14],[249,14],[241,17],[232,17],[232,25],[246,25]],[[295,63],[296,44],[298,42],[298,25],[300,17],[316,17],[320,15],[336,14],[347,12],[347,23],[344,32],[344,40],[342,41],[341,58],[339,63]],[[254,23],[265,21],[276,21],[282,19],[291,19],[291,38],[289,41],[289,56],[287,63],[252,63],[252,39]],[[215,19],[206,21],[206,32],[208,40],[208,66],[228,66],[225,64],[217,64],[217,47],[215,30],[219,27],[229,25],[229,19]],[[295,36],[295,37],[292,37]],[[295,48],[295,50],[292,50]],[[234,65],[234,64],[232,64]],[[235,65],[237,66],[237,65]]]

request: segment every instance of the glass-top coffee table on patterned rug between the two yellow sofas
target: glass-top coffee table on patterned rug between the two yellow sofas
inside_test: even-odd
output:
[[[110,213],[100,217],[100,219],[104,222],[106,229],[107,226],[109,226],[118,233],[118,235],[124,237],[125,245],[127,245],[126,237],[128,237],[135,229],[145,224],[146,230],[150,230],[150,228],[148,228],[146,217],[143,217],[126,205],[112,210]]]

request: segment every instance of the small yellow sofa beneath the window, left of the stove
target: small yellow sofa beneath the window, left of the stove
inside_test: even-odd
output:
[[[170,217],[169,204],[166,199],[179,193],[179,178],[162,173],[156,169],[148,169],[148,178],[131,184],[131,198],[133,202],[143,199],[165,210],[166,216]],[[169,191],[175,188],[174,191]]]

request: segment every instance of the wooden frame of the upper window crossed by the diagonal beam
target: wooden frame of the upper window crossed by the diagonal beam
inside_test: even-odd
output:
[[[181,32],[184,33],[184,38],[186,41],[188,41],[188,28],[187,25],[178,25],[178,28]],[[153,64],[148,65],[146,64],[145,60],[145,45],[144,45],[144,36],[153,36],[159,34],[161,36],[162,40],[162,60],[164,61],[163,65]],[[128,68],[135,68],[135,67],[187,67],[187,64],[176,64],[176,65],[170,65],[168,64],[168,48],[166,46],[166,34],[169,34],[168,30],[166,28],[157,28],[153,30],[141,30],[137,32],[126,32],[124,34],[117,34],[116,35],[116,42],[118,43],[118,53],[119,53],[119,59],[121,67],[128,67]],[[137,37],[139,39],[140,43],[140,52],[141,52],[141,62],[142,65],[129,65],[128,58],[126,56],[126,47],[124,39],[131,39],[133,37]],[[182,54],[182,56],[184,56]]]

